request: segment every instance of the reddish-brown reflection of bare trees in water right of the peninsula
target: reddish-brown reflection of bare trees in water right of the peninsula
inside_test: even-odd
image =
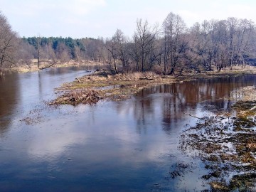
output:
[[[153,123],[152,119],[158,114],[162,128],[169,133],[187,114],[194,114],[202,102],[204,106],[214,106],[216,110],[227,110],[233,103],[229,100],[231,92],[251,85],[255,85],[255,75],[160,85],[142,90],[135,96],[132,105],[137,131],[146,132],[145,125]],[[200,117],[202,112],[197,115]]]

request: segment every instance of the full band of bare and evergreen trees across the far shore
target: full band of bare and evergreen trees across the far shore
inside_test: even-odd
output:
[[[97,60],[112,64],[116,72],[199,73],[255,65],[255,45],[255,23],[247,19],[213,19],[188,28],[181,16],[170,13],[161,25],[137,19],[131,37],[117,29],[110,38],[20,38],[0,12],[0,70],[30,66],[36,59],[38,68],[43,61],[54,65]]]

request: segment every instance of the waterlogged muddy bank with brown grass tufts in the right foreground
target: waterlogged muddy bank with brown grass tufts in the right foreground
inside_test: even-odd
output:
[[[181,150],[204,161],[209,174],[202,178],[213,191],[256,189],[256,88],[238,92],[228,112],[204,117],[181,135]]]

